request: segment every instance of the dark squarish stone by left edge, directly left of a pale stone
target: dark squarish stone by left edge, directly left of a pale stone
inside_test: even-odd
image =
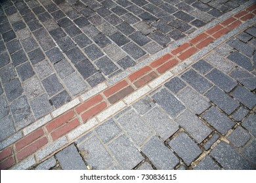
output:
[[[3,88],[9,102],[20,97],[23,93],[23,88],[17,78],[5,83]]]

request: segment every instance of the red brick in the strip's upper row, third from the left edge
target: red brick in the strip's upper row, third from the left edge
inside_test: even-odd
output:
[[[47,124],[45,127],[46,127],[47,131],[51,132],[51,131],[53,131],[53,129],[56,129],[60,125],[68,122],[68,120],[72,119],[74,116],[75,116],[75,112],[73,110],[70,110],[66,114],[49,122],[49,124]]]

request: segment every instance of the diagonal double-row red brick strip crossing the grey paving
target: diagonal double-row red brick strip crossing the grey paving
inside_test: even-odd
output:
[[[57,118],[54,118],[54,120],[52,118],[49,120],[48,118],[49,122],[46,120],[42,127],[38,129],[32,128],[31,133],[26,134],[19,141],[1,150],[1,169],[8,169],[15,163],[20,163],[22,159],[49,146],[60,137],[65,137],[65,135],[66,137],[71,137],[70,135],[73,134],[72,140],[74,140],[75,137],[72,130],[78,130],[79,128],[77,127],[83,127],[82,133],[84,133],[90,129],[90,126],[93,127],[99,124],[95,118],[92,118],[93,116],[96,116],[96,119],[100,122],[104,122],[109,116],[124,108],[126,106],[125,103],[128,105],[133,103],[142,95],[151,92],[156,86],[171,78],[173,75],[168,71],[169,69],[178,63],[182,63],[182,61],[196,54],[200,49],[205,48],[211,42],[232,31],[242,22],[253,18],[255,10],[256,5],[251,5],[190,39],[190,41],[185,42],[161,58],[156,59],[150,65],[146,65],[139,69],[139,71],[131,73],[121,82],[117,82],[117,84],[109,88],[103,87],[95,96],[91,93],[91,96],[85,101],[79,97],[79,105],[77,105],[76,100],[73,104],[74,106],[69,105],[66,107],[68,109],[62,109],[64,114],[59,116],[60,112],[56,112],[53,118],[58,116]],[[116,103],[117,101],[119,102]],[[103,110],[104,112],[100,114]],[[88,127],[87,122],[91,123]],[[79,133],[78,135],[81,134]]]

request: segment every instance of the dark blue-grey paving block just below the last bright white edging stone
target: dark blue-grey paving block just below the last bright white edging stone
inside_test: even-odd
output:
[[[152,96],[152,98],[172,117],[174,118],[182,110],[185,109],[184,105],[166,89]]]

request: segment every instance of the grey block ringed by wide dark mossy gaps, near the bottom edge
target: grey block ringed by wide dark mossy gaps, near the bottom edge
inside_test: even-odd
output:
[[[184,131],[169,141],[168,144],[188,166],[202,153],[198,145]]]

